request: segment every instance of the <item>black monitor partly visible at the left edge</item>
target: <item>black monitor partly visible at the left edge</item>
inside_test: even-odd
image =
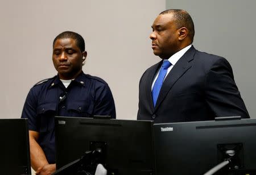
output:
[[[0,119],[0,174],[31,174],[27,119]]]

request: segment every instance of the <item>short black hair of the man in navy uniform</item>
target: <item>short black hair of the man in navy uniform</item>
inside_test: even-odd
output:
[[[57,39],[64,39],[64,38],[72,38],[72,39],[76,40],[77,47],[80,48],[81,52],[85,51],[84,39],[82,38],[81,35],[77,34],[76,32],[72,32],[72,31],[65,31],[65,32],[62,32],[61,34],[59,34],[58,36],[56,36],[56,38],[53,40],[53,47],[54,47],[55,41]]]

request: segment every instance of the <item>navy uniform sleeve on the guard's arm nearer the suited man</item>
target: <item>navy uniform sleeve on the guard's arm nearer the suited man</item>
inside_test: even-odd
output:
[[[115,119],[115,104],[112,92],[108,85],[96,89],[94,115],[110,115]]]

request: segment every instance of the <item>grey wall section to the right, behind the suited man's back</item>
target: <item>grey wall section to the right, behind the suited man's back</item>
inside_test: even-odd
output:
[[[167,0],[167,9],[184,9],[195,23],[193,45],[225,57],[251,118],[256,118],[256,1]]]

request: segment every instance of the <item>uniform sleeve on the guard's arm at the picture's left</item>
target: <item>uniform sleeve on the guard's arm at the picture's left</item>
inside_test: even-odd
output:
[[[21,118],[28,119],[28,130],[38,131],[38,124],[36,121],[36,106],[37,100],[34,91],[30,89],[26,101],[23,106]]]

